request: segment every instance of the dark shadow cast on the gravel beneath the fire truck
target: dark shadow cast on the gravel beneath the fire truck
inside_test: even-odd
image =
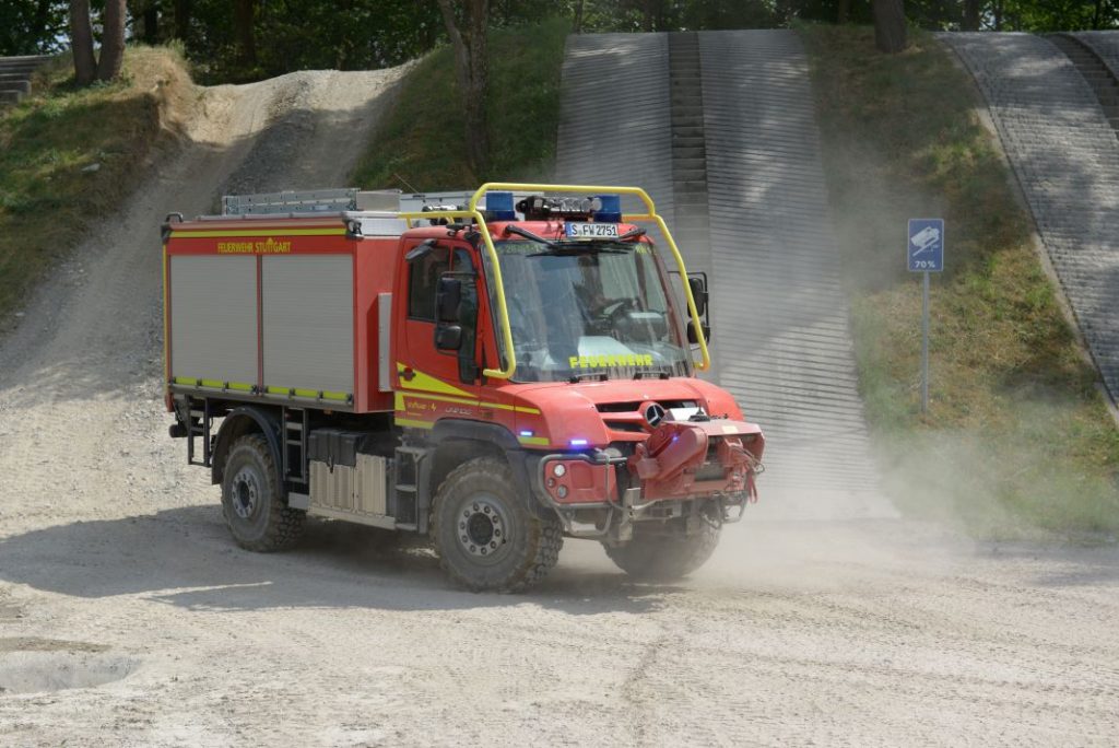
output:
[[[190,610],[459,610],[525,604],[571,615],[642,614],[684,588],[637,585],[576,561],[525,595],[451,587],[433,552],[401,535],[312,522],[288,553],[243,551],[217,506],[74,522],[0,540],[0,579],[79,598],[141,596]],[[577,542],[577,541],[575,541]]]

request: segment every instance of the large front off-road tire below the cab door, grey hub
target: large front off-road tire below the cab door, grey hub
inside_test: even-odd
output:
[[[489,511],[483,514],[485,509]],[[488,531],[498,533],[482,537],[488,541],[485,557],[482,544],[472,542],[479,540],[477,533],[471,534],[472,520],[481,521],[481,532],[491,522]],[[519,592],[544,579],[556,564],[563,525],[558,518],[544,520],[529,509],[505,461],[481,457],[453,469],[440,485],[432,536],[440,563],[455,583],[474,592]]]

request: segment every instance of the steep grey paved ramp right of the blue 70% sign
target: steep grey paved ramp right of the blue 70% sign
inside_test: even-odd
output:
[[[1088,348],[1119,401],[1119,140],[1107,78],[1080,49],[1052,37],[938,37],[963,60],[987,101]],[[1116,69],[1119,34],[1075,38]]]

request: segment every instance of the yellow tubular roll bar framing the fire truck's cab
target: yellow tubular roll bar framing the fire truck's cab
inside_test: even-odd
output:
[[[486,225],[486,219],[482,214],[478,211],[478,203],[481,198],[486,196],[486,193],[492,190],[507,190],[513,193],[582,193],[591,195],[632,195],[639,198],[647,208],[647,213],[634,213],[627,214],[622,216],[622,221],[626,223],[637,223],[640,221],[651,221],[657,224],[660,232],[665,235],[665,241],[668,242],[668,249],[673,251],[673,258],[676,260],[676,267],[680,271],[680,280],[684,283],[684,297],[688,302],[688,312],[692,315],[692,319],[695,320],[696,338],[699,342],[699,354],[700,361],[693,362],[695,367],[700,372],[705,372],[711,368],[711,354],[707,353],[707,340],[704,338],[703,329],[699,327],[699,312],[696,310],[696,300],[692,296],[692,284],[688,283],[688,271],[684,265],[684,256],[680,254],[679,249],[676,246],[676,240],[673,239],[671,232],[668,231],[668,225],[665,224],[665,219],[657,215],[657,208],[652,203],[652,198],[640,187],[601,187],[593,185],[534,185],[534,184],[520,184],[520,183],[505,183],[505,181],[488,181],[481,187],[479,187],[473,196],[470,198],[470,204],[467,206],[466,211],[431,211],[427,213],[401,213],[399,217],[408,221],[411,225],[412,221],[420,221],[424,218],[473,218],[474,223],[478,224],[479,233],[482,235],[482,241],[486,243],[486,254],[489,256],[490,262],[493,264],[493,284],[497,287],[495,289],[497,297],[497,312],[500,318],[501,326],[501,340],[505,344],[507,352],[507,359],[504,368],[487,368],[482,373],[486,376],[491,376],[498,380],[508,380],[513,376],[514,372],[517,370],[517,354],[513,348],[513,330],[509,326],[509,310],[505,305],[505,282],[501,280],[501,264],[497,256],[497,249],[493,246],[493,240],[490,237],[489,227]]]

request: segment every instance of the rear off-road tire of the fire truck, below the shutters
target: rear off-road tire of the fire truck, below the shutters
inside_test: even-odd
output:
[[[307,512],[284,504],[275,457],[262,434],[244,436],[229,449],[222,511],[237,545],[248,551],[282,551],[302,536]]]

